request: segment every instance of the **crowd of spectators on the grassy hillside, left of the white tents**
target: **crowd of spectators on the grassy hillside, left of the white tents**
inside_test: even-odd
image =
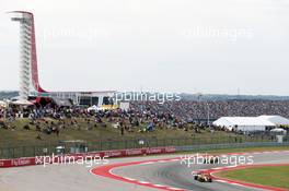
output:
[[[158,128],[176,127],[183,128],[184,121],[174,118],[172,115],[158,115],[150,111],[138,112],[136,110],[96,110],[88,111],[85,108],[59,108],[59,107],[44,107],[44,108],[8,108],[1,110],[0,128],[14,130],[13,121],[16,118],[28,118],[30,123],[24,124],[24,130],[35,129],[39,132],[37,139],[42,139],[42,133],[57,134],[62,129],[74,130],[92,130],[93,128],[106,128],[106,122],[113,124],[122,134],[125,132],[149,132]],[[50,120],[53,119],[53,120]],[[42,133],[41,133],[42,132]]]

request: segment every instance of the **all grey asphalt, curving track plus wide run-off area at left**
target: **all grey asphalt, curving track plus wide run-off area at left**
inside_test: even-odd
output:
[[[251,154],[254,164],[288,164],[289,152]],[[177,155],[113,158],[109,164],[149,159],[173,158]],[[192,171],[220,165],[194,165],[189,168],[180,160],[117,167],[112,174],[129,177],[141,182],[166,186],[175,190],[256,190],[224,182],[201,183],[194,180]],[[150,191],[159,190],[135,183],[123,182],[92,174],[84,165],[48,165],[0,169],[0,191]]]

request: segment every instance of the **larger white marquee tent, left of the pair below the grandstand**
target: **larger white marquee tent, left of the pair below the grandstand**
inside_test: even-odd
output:
[[[273,122],[258,117],[221,117],[212,124],[230,131],[265,131],[267,127],[275,127]]]

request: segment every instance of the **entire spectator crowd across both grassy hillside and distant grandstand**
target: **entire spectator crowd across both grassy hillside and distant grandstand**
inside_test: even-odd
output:
[[[119,129],[122,134],[125,131],[134,131],[141,127],[141,132],[153,131],[155,128],[180,128],[187,129],[188,123],[197,128],[206,127],[207,119],[217,119],[223,116],[261,116],[280,115],[289,117],[289,102],[270,100],[227,100],[227,102],[131,102],[128,110],[97,110],[89,112],[86,108],[72,107],[62,108],[47,105],[46,107],[28,107],[19,109],[9,107],[0,109],[0,119],[13,121],[15,118],[28,118],[31,126],[37,131],[59,134],[65,128],[79,129],[81,126],[76,119],[81,117],[85,120],[88,130],[94,126],[106,127],[103,121],[111,122]],[[45,121],[43,119],[55,119]],[[65,120],[69,119],[69,120]],[[57,122],[55,122],[57,121]],[[23,127],[30,130],[30,124]],[[83,124],[82,124],[83,127]],[[0,128],[12,128],[3,120],[0,120]],[[198,130],[196,129],[196,132]]]

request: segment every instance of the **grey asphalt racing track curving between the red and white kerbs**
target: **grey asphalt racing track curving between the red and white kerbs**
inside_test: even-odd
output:
[[[254,164],[288,164],[289,152],[254,154]],[[244,187],[231,186],[223,182],[213,181],[212,183],[204,183],[194,180],[192,171],[199,169],[208,169],[220,165],[195,165],[187,167],[181,165],[181,162],[153,163],[150,165],[138,165],[116,168],[113,174],[122,175],[123,177],[134,178],[144,182],[155,184],[165,184],[172,188],[184,190],[256,190]]]

